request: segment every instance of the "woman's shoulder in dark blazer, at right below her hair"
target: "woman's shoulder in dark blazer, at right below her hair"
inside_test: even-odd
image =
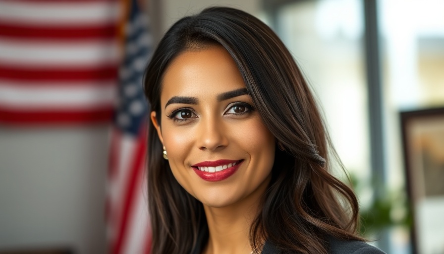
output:
[[[385,254],[380,249],[362,241],[330,239],[331,254]]]

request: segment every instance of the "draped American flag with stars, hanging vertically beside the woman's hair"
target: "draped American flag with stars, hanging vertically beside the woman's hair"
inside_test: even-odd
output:
[[[108,236],[112,254],[149,253],[151,245],[145,181],[149,111],[142,77],[152,39],[147,31],[148,20],[136,0],[131,1],[129,10],[108,179]]]

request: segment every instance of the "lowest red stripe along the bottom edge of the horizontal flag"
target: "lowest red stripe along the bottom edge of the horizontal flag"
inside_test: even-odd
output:
[[[8,111],[0,108],[0,123],[9,125],[31,126],[37,125],[72,125],[108,123],[112,119],[112,108],[96,110],[78,110],[75,112],[51,111],[51,112],[22,112]]]

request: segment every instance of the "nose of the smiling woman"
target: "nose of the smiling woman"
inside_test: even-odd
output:
[[[222,120],[212,118],[200,121],[199,148],[201,150],[215,151],[223,149],[228,144],[226,128]]]

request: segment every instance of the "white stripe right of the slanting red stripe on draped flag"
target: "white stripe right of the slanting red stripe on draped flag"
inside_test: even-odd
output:
[[[145,168],[145,163],[141,165]],[[150,224],[148,220],[147,183],[146,174],[139,175],[139,181],[134,198],[134,208],[130,214],[128,228],[123,242],[121,253],[146,253]]]

